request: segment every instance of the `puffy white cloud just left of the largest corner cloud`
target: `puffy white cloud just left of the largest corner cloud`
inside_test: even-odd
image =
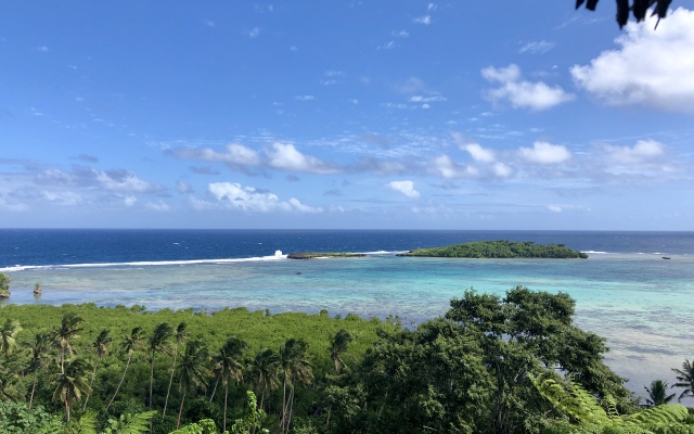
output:
[[[550,87],[543,81],[523,80],[520,69],[514,64],[505,68],[489,66],[481,69],[481,75],[488,81],[501,85],[488,91],[488,97],[493,103],[507,100],[516,108],[545,110],[575,98],[558,86]]]

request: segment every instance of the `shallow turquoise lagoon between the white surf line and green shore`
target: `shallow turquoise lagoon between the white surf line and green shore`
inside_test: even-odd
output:
[[[591,254],[589,259],[396,257],[112,265],[14,269],[12,303],[134,304],[149,309],[398,315],[416,326],[444,315],[466,289],[502,295],[515,285],[565,292],[576,323],[607,339],[607,363],[642,394],[694,357],[694,256]],[[35,299],[34,283],[43,295]],[[1,311],[0,311],[1,314]]]

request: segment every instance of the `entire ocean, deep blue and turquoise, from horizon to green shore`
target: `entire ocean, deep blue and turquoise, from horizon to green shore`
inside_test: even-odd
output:
[[[395,255],[480,240],[560,243],[590,257]],[[367,256],[286,259],[307,251]],[[444,315],[467,289],[503,295],[525,285],[571,295],[575,322],[607,339],[606,362],[638,394],[655,379],[673,383],[670,369],[694,358],[694,232],[0,229],[0,272],[12,278],[0,305],[327,309],[398,315],[408,327]]]

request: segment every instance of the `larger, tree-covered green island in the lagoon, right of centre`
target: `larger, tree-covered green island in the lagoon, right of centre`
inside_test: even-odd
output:
[[[459,258],[553,258],[568,259],[588,257],[583,252],[568,248],[564,244],[535,244],[499,241],[476,241],[445,247],[417,248],[398,256],[459,257]]]

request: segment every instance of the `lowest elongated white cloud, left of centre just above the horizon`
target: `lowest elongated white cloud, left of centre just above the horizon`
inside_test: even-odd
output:
[[[277,194],[266,193],[253,187],[242,187],[235,182],[213,182],[208,184],[207,191],[218,202],[232,209],[244,212],[270,213],[270,212],[292,212],[299,213],[321,213],[322,208],[314,208],[304,205],[297,199],[290,199],[286,202],[280,201]],[[207,208],[211,204],[204,201],[196,201],[197,208]]]

